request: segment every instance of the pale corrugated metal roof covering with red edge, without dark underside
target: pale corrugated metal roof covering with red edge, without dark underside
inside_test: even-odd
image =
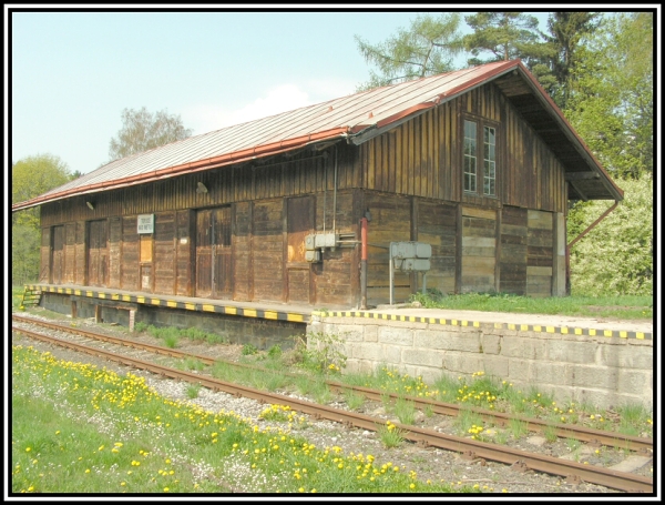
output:
[[[586,164],[603,176],[602,185],[607,198],[621,200],[623,192],[572,131],[533,75],[519,60],[514,60],[378,88],[191,137],[113,161],[40,196],[14,204],[12,211],[76,194],[239,163],[299,149],[313,142],[347,138],[354,143],[361,143],[391,125],[512,71],[530,81],[532,93],[540,95],[543,109],[555,117],[559,128],[570,129],[566,133],[570,137],[572,132],[575,149],[584,151]],[[574,170],[579,170],[579,166]]]

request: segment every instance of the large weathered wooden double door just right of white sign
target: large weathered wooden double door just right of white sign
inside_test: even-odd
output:
[[[232,294],[231,206],[196,213],[196,296]]]

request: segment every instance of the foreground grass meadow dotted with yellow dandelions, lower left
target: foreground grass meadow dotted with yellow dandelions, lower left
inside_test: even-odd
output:
[[[233,413],[163,398],[131,373],[58,361],[31,347],[12,349],[12,385],[17,494],[453,492],[370,454],[316,447]]]

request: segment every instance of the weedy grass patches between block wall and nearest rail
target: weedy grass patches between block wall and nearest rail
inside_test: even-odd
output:
[[[146,325],[143,330],[165,341],[184,336],[201,339],[202,335],[197,331],[185,334],[176,329],[155,329],[151,325]],[[212,366],[212,374],[224,381],[262,390],[296,390],[301,395],[313,396],[318,403],[329,403],[334,395],[325,384],[325,374],[320,370],[305,370],[299,362],[291,363],[293,354],[290,351],[283,352],[277,345],[268,351],[258,351],[252,344],[247,344],[242,361],[258,364],[262,370],[248,371],[231,363],[217,362]],[[178,366],[184,370],[203,367],[194,360],[185,361]],[[294,368],[298,372],[296,377],[287,377],[287,373]],[[520,414],[557,424],[581,424],[595,430],[653,436],[651,413],[642,406],[625,405],[617,407],[616,412],[606,412],[591,405],[575,405],[572,402],[556,404],[551,393],[540,392],[535,387],[521,391],[512,383],[487,376],[483,372],[475,372],[470,377],[442,374],[433,384],[428,385],[419,376],[401,374],[396,368],[382,364],[369,374],[336,374],[335,380],[348,386],[378,390],[381,392],[381,403],[386,412],[395,414],[403,424],[413,423],[415,408],[408,398],[418,396],[459,404],[462,407],[478,406],[490,411]],[[390,395],[396,395],[399,400],[395,401]],[[361,395],[355,396],[347,391],[342,396],[351,410],[362,404]],[[431,408],[426,411],[424,415],[431,416]],[[460,428],[462,433],[468,433],[474,424],[480,425],[480,420],[466,424]],[[513,428],[515,436],[521,436],[516,435],[521,432],[521,428]],[[550,440],[553,434],[545,434],[545,436]]]

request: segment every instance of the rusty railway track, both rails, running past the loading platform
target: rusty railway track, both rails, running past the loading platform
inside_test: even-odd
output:
[[[41,321],[35,321],[32,319],[23,319],[14,316],[17,322],[21,321],[28,324],[38,324],[43,327],[48,327],[53,331],[63,331],[66,333],[73,333],[79,335],[79,337],[92,339],[96,342],[105,342],[113,345],[123,345],[130,346],[133,349],[141,349],[142,351],[149,353],[156,353],[160,355],[167,355],[174,358],[184,358],[184,357],[195,357],[201,360],[203,363],[212,364],[215,360],[212,360],[208,356],[202,355],[192,355],[188,353],[182,353],[176,350],[171,350],[167,347],[139,344],[137,342],[132,342],[126,339],[112,337],[108,335],[101,335],[93,332],[85,332],[79,329],[73,329],[71,326],[63,326],[53,323],[42,323]],[[234,384],[225,381],[221,381],[214,378],[212,376],[202,375],[198,373],[185,372],[182,370],[176,370],[170,366],[165,366],[162,364],[154,363],[152,361],[146,361],[137,357],[131,357],[124,354],[119,354],[116,352],[108,351],[104,349],[92,347],[90,345],[84,345],[79,342],[73,342],[71,340],[63,340],[53,337],[50,335],[44,335],[41,333],[33,332],[31,330],[27,330],[24,327],[13,327],[12,331],[19,332],[29,336],[31,339],[37,339],[42,342],[47,342],[49,344],[55,344],[60,346],[64,346],[78,352],[83,352],[90,355],[99,356],[105,360],[110,360],[126,366],[141,368],[149,371],[151,373],[157,374],[163,377],[187,381],[191,383],[201,384],[204,387],[207,387],[213,391],[223,391],[225,393],[229,393],[235,396],[244,396],[252,400],[256,400],[262,403],[270,403],[270,404],[280,404],[288,405],[291,410],[298,411],[304,414],[308,414],[314,418],[319,420],[329,420],[337,423],[341,423],[347,427],[357,427],[366,431],[377,431],[379,426],[385,425],[383,418],[378,418],[365,414],[359,414],[350,411],[345,411],[341,408],[335,408],[328,405],[319,405],[313,402],[294,398],[291,396],[286,396],[276,393],[267,393],[264,391],[259,391],[249,386],[244,386],[239,384]],[[235,364],[234,364],[235,365]],[[245,365],[246,366],[246,365]],[[329,385],[334,388],[348,390],[349,386],[341,385],[339,383],[330,382]],[[368,400],[376,398],[377,395],[380,398],[380,393],[369,390],[366,387],[356,387],[356,391],[360,394],[364,394]],[[420,407],[424,407],[430,405],[432,408],[436,408],[436,412],[446,415],[458,415],[459,408],[451,404],[444,404],[442,402],[434,402],[431,400],[422,400],[422,398],[413,398],[413,401],[419,402]],[[483,414],[482,410],[477,410],[479,413]],[[487,412],[487,411],[484,411]],[[511,416],[499,413],[487,413],[485,415],[491,415],[492,420],[495,422],[509,423]],[[525,418],[521,418],[525,421]],[[543,430],[542,422],[539,420],[528,420],[529,426],[534,431]],[[548,455],[530,453],[525,451],[519,451],[511,447],[505,447],[498,444],[490,444],[485,442],[474,441],[466,437],[459,437],[453,435],[447,435],[440,433],[438,431],[421,428],[417,426],[393,423],[398,428],[403,432],[405,440],[408,440],[412,443],[416,443],[421,446],[429,447],[438,447],[446,451],[452,451],[461,454],[464,458],[469,461],[493,461],[507,465],[512,465],[518,471],[535,471],[542,472],[551,475],[563,476],[571,482],[587,482],[592,484],[602,485],[612,489],[624,491],[628,493],[652,493],[653,492],[653,479],[648,477],[644,477],[641,475],[635,475],[625,472],[618,472],[611,468],[593,466],[593,465],[584,465],[573,461],[566,461],[557,457],[552,457]],[[563,426],[557,428],[561,430],[562,435],[566,437],[577,436],[579,440],[585,440],[591,443],[601,443],[605,445],[612,446],[621,446],[622,448],[630,447],[633,451],[640,451],[643,453],[651,453],[653,451],[653,441],[647,438],[638,438],[638,437],[626,437],[625,435],[598,432],[594,430],[583,428],[583,427],[573,427],[573,426]],[[577,433],[577,432],[579,433]],[[605,441],[605,442],[602,442]],[[617,445],[618,444],[618,445]],[[623,444],[623,445],[622,445]]]

